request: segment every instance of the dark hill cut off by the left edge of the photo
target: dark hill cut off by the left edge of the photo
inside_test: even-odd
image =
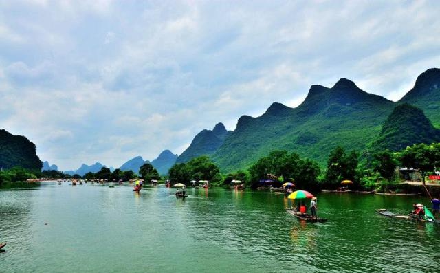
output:
[[[43,162],[36,155],[36,146],[23,135],[12,135],[0,130],[0,169],[21,166],[41,170]]]

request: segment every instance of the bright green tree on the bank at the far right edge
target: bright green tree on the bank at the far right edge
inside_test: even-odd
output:
[[[407,168],[414,168],[421,173],[423,186],[428,172],[434,172],[440,162],[440,143],[417,144],[406,147],[398,154],[401,164]]]

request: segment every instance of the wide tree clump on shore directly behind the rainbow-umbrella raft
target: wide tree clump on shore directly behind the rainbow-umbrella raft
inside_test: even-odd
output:
[[[250,182],[260,179],[292,178],[297,188],[314,188],[318,184],[320,168],[314,161],[301,159],[297,153],[285,150],[272,151],[266,157],[261,157],[249,168]]]

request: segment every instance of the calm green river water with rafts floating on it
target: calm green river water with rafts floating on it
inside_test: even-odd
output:
[[[302,223],[284,195],[43,183],[0,191],[0,272],[440,272],[440,225],[391,219],[425,197],[318,195]]]

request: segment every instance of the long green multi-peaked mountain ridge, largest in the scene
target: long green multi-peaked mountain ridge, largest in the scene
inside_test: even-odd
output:
[[[335,146],[362,151],[380,133],[394,103],[368,94],[348,80],[332,88],[312,86],[299,107],[274,104],[258,118],[243,116],[212,155],[223,173],[245,169],[276,149],[325,166]]]

